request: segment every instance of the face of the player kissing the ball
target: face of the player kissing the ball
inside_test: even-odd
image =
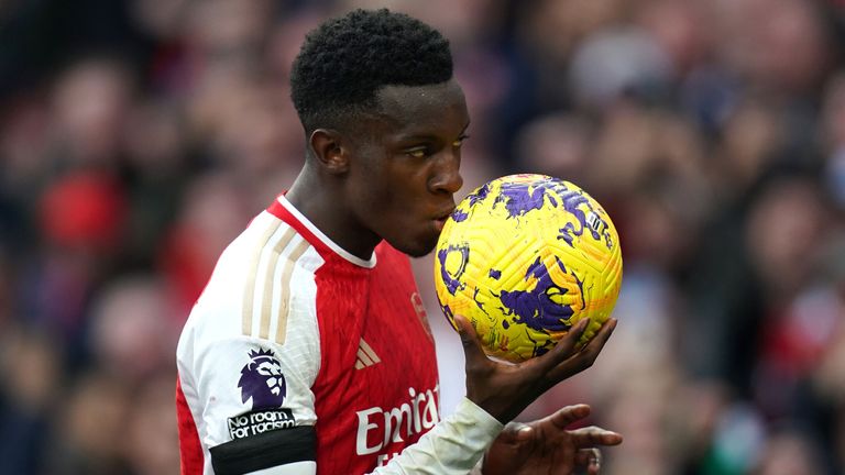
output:
[[[463,185],[461,145],[470,123],[460,86],[389,86],[376,96],[349,147],[348,205],[375,242],[411,256],[431,252]]]

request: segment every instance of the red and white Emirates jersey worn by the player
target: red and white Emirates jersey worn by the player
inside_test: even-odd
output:
[[[177,364],[183,474],[363,474],[439,420],[408,257],[358,258],[284,197],[222,253]]]

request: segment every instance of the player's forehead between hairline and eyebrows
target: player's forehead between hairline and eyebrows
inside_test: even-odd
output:
[[[427,86],[385,86],[376,92],[375,117],[392,134],[426,135],[469,123],[463,90],[454,79]],[[386,132],[386,131],[385,131]]]

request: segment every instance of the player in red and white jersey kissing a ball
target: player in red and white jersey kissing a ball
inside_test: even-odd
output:
[[[613,320],[508,365],[458,317],[467,396],[440,417],[408,255],[435,247],[462,185],[470,118],[447,40],[356,10],[307,36],[290,84],[305,165],[222,253],[179,340],[183,474],[597,473],[594,448],[621,437],[566,430],[589,407],[503,424],[592,365]]]

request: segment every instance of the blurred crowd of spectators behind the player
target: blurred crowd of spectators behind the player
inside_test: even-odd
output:
[[[303,161],[290,62],[382,5],[451,41],[461,194],[545,173],[619,230],[613,339],[522,418],[591,404],[608,475],[845,473],[845,2],[7,0],[0,474],[178,473],[178,332]]]

